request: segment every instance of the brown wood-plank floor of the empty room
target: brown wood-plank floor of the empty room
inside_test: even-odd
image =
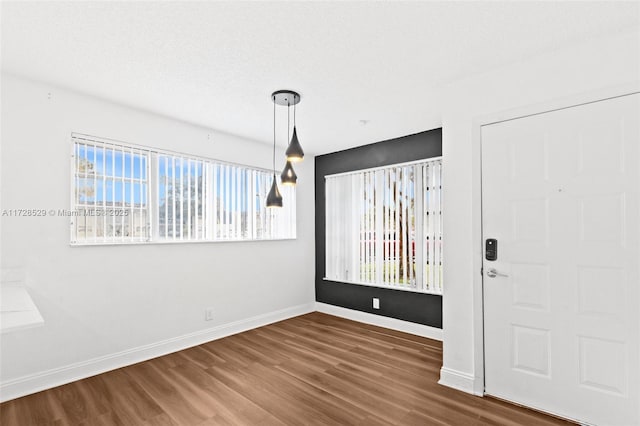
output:
[[[292,318],[0,405],[2,426],[560,425],[437,384],[442,344]]]

